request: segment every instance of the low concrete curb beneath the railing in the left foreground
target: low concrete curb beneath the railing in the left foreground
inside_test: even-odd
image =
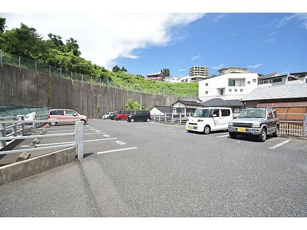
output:
[[[75,162],[75,147],[69,147],[0,167],[0,186],[58,166]]]

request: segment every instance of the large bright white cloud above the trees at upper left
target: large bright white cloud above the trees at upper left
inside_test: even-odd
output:
[[[172,28],[187,26],[204,14],[159,13],[53,13],[2,14],[9,29],[20,22],[34,27],[46,39],[48,33],[73,37],[82,57],[110,67],[118,57],[139,58],[133,52],[150,46],[165,46],[172,40]]]

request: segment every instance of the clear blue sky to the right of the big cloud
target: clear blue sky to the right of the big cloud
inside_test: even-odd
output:
[[[119,57],[128,71],[147,75],[168,67],[185,76],[192,65],[249,67],[254,73],[307,71],[306,15],[285,13],[208,13],[187,26],[172,27],[170,42],[136,49],[135,59]],[[155,36],[155,34],[152,34]]]

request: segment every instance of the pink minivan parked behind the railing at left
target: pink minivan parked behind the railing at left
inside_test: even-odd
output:
[[[75,120],[80,119],[81,121],[87,123],[87,117],[79,114],[72,109],[50,109],[48,113],[48,120],[50,120],[50,125],[55,126],[57,124],[74,124],[74,122],[57,122],[57,120]]]

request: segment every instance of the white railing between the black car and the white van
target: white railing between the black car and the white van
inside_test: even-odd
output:
[[[151,120],[153,122],[164,122],[164,123],[173,123],[173,124],[185,124],[187,119],[192,116],[194,113],[153,113],[151,115]]]

